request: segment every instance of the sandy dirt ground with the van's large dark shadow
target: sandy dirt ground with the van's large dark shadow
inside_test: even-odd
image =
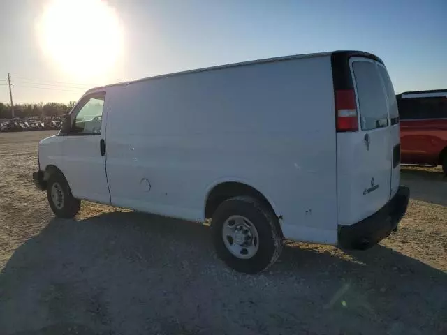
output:
[[[38,140],[0,134],[0,334],[447,334],[447,179],[402,170],[400,230],[368,251],[288,244],[256,276],[207,225],[84,202],[54,218]]]

